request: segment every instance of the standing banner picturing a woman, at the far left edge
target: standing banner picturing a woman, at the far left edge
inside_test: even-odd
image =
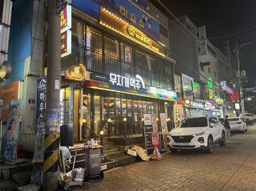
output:
[[[11,100],[9,114],[4,132],[4,150],[2,160],[15,162],[17,157],[17,144],[19,124],[21,123],[22,99]]]

